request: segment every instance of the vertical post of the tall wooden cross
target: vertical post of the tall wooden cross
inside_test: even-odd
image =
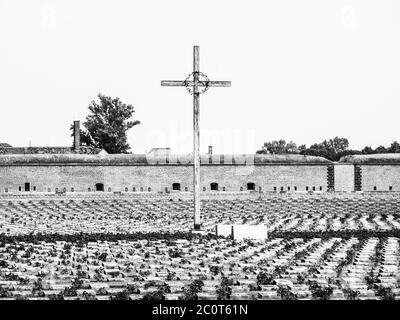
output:
[[[200,230],[200,92],[199,47],[193,47],[193,179],[194,179],[194,229]]]

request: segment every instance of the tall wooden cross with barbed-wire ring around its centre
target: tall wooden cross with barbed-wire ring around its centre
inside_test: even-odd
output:
[[[186,87],[193,95],[193,194],[194,230],[201,229],[200,221],[200,94],[209,87],[230,87],[230,81],[210,81],[200,72],[199,46],[193,47],[193,72],[184,81],[164,80],[162,86]]]

